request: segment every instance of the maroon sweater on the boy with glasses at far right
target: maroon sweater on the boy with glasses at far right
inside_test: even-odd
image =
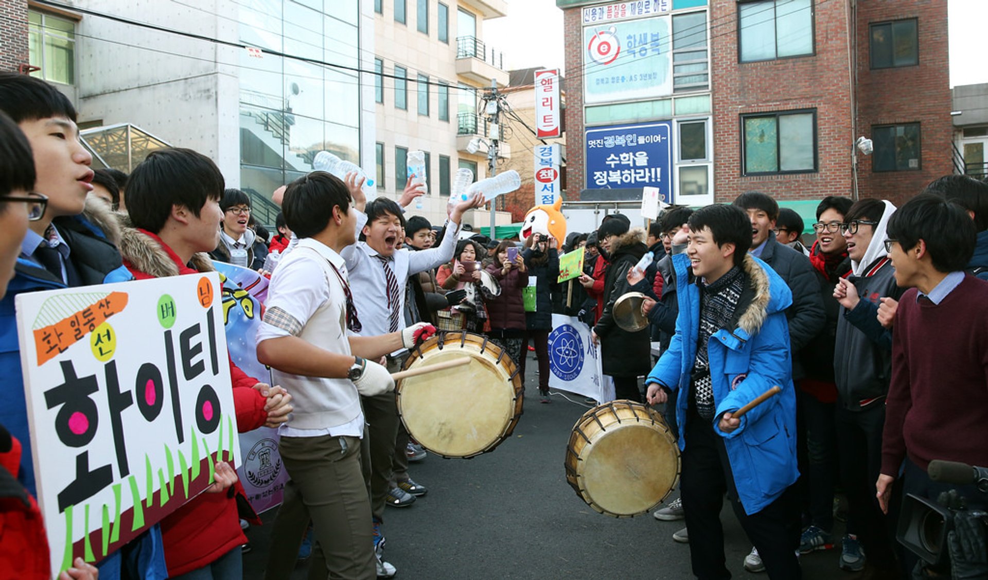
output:
[[[988,283],[966,276],[940,304],[916,294],[895,313],[881,472],[907,454],[988,465]]]

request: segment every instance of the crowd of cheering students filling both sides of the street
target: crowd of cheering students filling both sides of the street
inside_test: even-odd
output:
[[[894,539],[902,494],[946,489],[926,473],[933,459],[988,465],[983,182],[948,176],[900,208],[827,197],[809,248],[798,215],[757,192],[669,208],[647,231],[612,214],[558,248],[542,234],[522,247],[465,238],[461,218],[481,196],[434,228],[405,217],[422,195],[411,180],[397,202],[369,202],[355,174],[313,172],[275,193],[283,213],[269,242],[206,156],[170,148],[129,176],[94,172],[75,118],[50,85],[0,73],[0,562],[18,577],[49,570],[14,296],[206,272],[212,260],[271,276],[257,357],[276,386],[229,362],[238,430],[277,427],[290,476],[266,578],[287,578],[306,539],[317,575],[396,573],[383,558],[385,508],[428,488],[408,473],[424,452],[397,416],[390,373],[436,327],[485,333],[523,376],[531,343],[548,402],[552,314],[585,320],[617,398],[665,405],[683,469],[680,498],[656,518],[685,520],[674,539],[689,542],[700,578],[730,576],[724,496],[754,544],[745,567],[798,578],[798,553],[836,546],[838,488],[848,513],[837,565],[909,577],[923,566]],[[557,284],[560,249],[581,247],[583,273]],[[647,252],[652,263],[636,268]],[[651,324],[637,332],[613,315],[631,290],[648,295]],[[735,416],[773,386],[781,393]],[[98,568],[77,559],[59,578],[241,577],[242,520],[257,520],[232,468],[214,467],[209,493]],[[958,489],[984,508],[973,485]]]

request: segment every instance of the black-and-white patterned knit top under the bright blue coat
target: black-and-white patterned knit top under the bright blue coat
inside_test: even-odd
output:
[[[694,362],[693,391],[697,399],[697,412],[704,419],[713,419],[713,382],[706,346],[715,332],[727,326],[738,298],[744,290],[745,276],[737,266],[716,282],[703,286],[700,283],[700,332],[697,338],[697,360]]]

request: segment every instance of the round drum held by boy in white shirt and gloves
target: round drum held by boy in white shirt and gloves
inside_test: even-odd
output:
[[[469,357],[469,365],[398,382],[398,414],[415,441],[444,457],[494,451],[522,415],[522,376],[487,337],[441,332],[416,347],[405,370]]]

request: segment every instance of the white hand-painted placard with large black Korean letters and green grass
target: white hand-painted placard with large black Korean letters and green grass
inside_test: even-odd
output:
[[[215,273],[20,294],[53,574],[120,549],[240,463]]]

